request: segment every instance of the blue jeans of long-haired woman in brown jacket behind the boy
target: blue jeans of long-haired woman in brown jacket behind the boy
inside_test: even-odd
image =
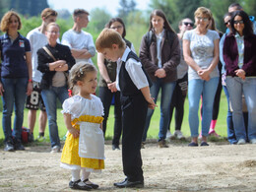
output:
[[[166,137],[166,132],[168,129],[170,117],[170,102],[171,96],[174,91],[176,82],[168,82],[165,83],[161,79],[158,79],[153,83],[151,87],[151,95],[155,98],[155,103],[157,103],[158,96],[161,89],[161,97],[160,97],[160,132],[159,132],[159,141],[164,140]],[[146,124],[144,128],[142,141],[145,142],[147,138],[147,132],[150,127],[151,117],[154,113],[153,109],[148,108],[148,113],[146,117]]]

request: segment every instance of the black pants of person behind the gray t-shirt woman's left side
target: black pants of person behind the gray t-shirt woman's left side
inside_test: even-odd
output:
[[[175,107],[175,130],[181,129],[181,124],[183,121],[184,115],[184,102],[187,96],[187,86],[188,79],[187,74],[182,78],[178,79],[176,82],[175,89],[173,91],[171,102],[170,102],[170,122],[172,118],[173,109]],[[170,126],[170,122],[168,125],[168,130]]]

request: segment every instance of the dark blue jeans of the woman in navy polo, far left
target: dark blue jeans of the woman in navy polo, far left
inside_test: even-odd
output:
[[[8,79],[1,78],[4,88],[3,100],[3,118],[2,125],[5,134],[5,143],[13,143],[13,137],[21,142],[24,106],[26,101],[26,92],[28,78]],[[12,113],[15,107],[14,131],[12,134]],[[12,137],[13,136],[13,137]]]

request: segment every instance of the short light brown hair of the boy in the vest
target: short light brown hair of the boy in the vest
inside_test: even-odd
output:
[[[112,29],[104,29],[96,38],[96,50],[101,52],[103,48],[112,48],[117,44],[119,48],[125,48],[125,41],[119,32]]]

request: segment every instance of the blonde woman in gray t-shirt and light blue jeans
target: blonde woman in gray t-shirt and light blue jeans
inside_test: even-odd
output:
[[[208,29],[213,18],[212,12],[199,7],[195,12],[196,29],[183,36],[183,54],[188,64],[188,99],[191,147],[198,146],[199,100],[203,96],[202,142],[209,146],[207,137],[212,120],[213,104],[219,83],[219,34]]]

